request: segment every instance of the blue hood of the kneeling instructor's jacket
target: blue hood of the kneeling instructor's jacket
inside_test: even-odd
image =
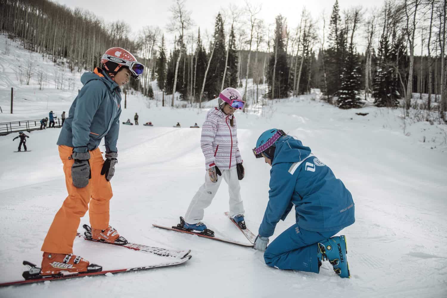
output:
[[[272,166],[279,163],[296,163],[311,154],[309,147],[303,146],[300,140],[285,135],[276,141],[276,150]]]

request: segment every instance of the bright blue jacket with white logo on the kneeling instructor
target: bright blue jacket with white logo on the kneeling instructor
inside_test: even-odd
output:
[[[342,230],[354,223],[354,201],[343,182],[300,140],[276,142],[270,190],[259,235],[270,237],[276,224],[295,206],[298,226],[308,231]]]

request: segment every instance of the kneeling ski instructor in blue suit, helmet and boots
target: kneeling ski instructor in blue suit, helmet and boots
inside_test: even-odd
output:
[[[329,260],[335,273],[349,277],[346,237],[333,237],[354,223],[354,201],[343,182],[309,147],[282,130],[262,133],[253,153],[272,167],[269,202],[254,243],[265,251],[266,264],[319,273],[321,262]],[[296,223],[267,247],[276,224],[294,206]]]

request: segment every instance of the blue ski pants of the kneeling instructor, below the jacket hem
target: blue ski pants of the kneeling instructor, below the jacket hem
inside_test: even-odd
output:
[[[267,265],[278,269],[319,273],[317,243],[338,232],[307,231],[295,223],[270,243],[264,252],[264,260]]]

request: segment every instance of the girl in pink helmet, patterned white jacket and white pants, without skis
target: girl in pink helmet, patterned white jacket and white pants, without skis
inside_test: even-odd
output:
[[[239,180],[244,177],[244,167],[237,141],[236,109],[243,109],[245,102],[235,88],[226,88],[219,94],[219,107],[212,108],[202,125],[200,144],[205,155],[205,183],[198,189],[185,214],[184,228],[204,231],[201,222],[204,209],[210,206],[221,179],[228,184],[230,215],[245,229],[244,205],[240,197]]]

